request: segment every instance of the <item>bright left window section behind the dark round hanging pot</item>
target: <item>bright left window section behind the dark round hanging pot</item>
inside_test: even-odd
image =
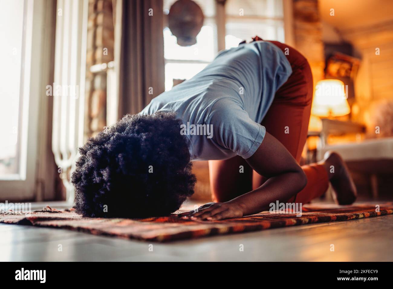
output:
[[[175,0],[164,1],[164,14]],[[214,0],[196,0],[205,16],[204,26],[193,46],[179,46],[168,27],[164,27],[165,91],[171,90],[176,79],[190,79],[203,70],[217,54],[217,29]],[[165,16],[165,15],[164,15]]]

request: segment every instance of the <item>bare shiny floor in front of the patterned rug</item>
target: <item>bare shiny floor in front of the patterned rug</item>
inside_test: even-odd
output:
[[[165,244],[5,224],[0,236],[0,261],[393,261],[393,215]]]

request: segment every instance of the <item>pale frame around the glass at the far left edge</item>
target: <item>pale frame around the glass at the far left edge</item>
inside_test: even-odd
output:
[[[53,69],[53,34],[50,32],[55,17],[50,15],[53,15],[55,7],[55,3],[24,0],[18,115],[19,168],[18,174],[0,179],[2,201],[40,201],[55,195],[54,178],[46,174],[48,170],[53,171],[50,165],[54,161],[46,147],[50,143],[47,143],[50,99],[45,94]],[[46,196],[45,188],[49,193]]]

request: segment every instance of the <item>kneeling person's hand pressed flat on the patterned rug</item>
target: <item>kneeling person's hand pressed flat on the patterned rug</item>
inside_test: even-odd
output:
[[[235,203],[207,203],[206,205],[199,207],[197,210],[192,210],[178,215],[179,218],[208,221],[240,218],[242,216],[242,208]]]

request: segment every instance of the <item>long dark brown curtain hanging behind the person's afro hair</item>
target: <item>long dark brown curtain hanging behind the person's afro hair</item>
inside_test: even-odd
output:
[[[163,0],[122,1],[119,117],[140,112],[165,90]]]

